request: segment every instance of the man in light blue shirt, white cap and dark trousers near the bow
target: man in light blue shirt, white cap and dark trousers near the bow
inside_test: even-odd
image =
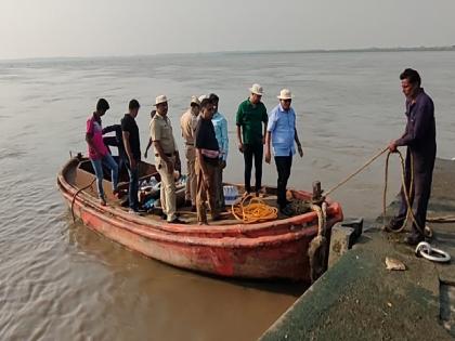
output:
[[[286,215],[291,214],[286,200],[286,186],[290,175],[292,155],[296,154],[294,143],[297,144],[300,157],[303,149],[296,130],[296,113],[290,106],[292,94],[283,89],[278,95],[280,104],[269,115],[269,123],[265,134],[265,162],[270,163],[270,142],[272,140],[273,155],[275,157],[277,182],[277,204],[280,211]]]

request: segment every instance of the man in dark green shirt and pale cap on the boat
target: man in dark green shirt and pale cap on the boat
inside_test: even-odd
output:
[[[238,149],[245,160],[245,191],[251,193],[251,169],[255,158],[256,196],[259,196],[262,180],[262,156],[268,123],[265,105],[261,102],[263,90],[259,84],[249,89],[248,100],[240,103],[236,116]],[[263,124],[263,128],[262,128]]]

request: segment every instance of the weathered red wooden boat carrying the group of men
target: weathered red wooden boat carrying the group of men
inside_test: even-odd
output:
[[[106,173],[103,185],[108,194],[112,187]],[[151,175],[159,180],[153,165],[141,162],[140,179]],[[275,221],[253,224],[244,224],[226,212],[221,221],[197,225],[196,215],[183,209],[181,217],[187,224],[170,224],[156,214],[130,214],[109,195],[108,205],[101,206],[91,162],[81,157],[72,158],[63,167],[57,184],[84,225],[155,260],[217,276],[310,283],[308,249],[318,229],[313,211],[291,218],[278,215]],[[128,188],[128,183],[119,186]],[[264,191],[263,200],[275,205],[276,189],[265,187]],[[291,191],[291,194],[300,200],[309,200],[312,195],[304,191]],[[332,226],[342,220],[342,211],[338,202],[329,199],[326,202],[329,235]]]

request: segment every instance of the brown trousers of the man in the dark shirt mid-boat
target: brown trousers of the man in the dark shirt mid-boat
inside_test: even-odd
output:
[[[196,209],[197,209],[197,222],[207,224],[207,206],[210,208],[212,219],[218,218],[218,209],[216,206],[216,187],[214,187],[214,173],[218,166],[206,162],[209,185],[208,188],[204,183],[203,169],[200,168],[199,160],[196,158],[196,174],[197,174],[197,196],[196,196]]]

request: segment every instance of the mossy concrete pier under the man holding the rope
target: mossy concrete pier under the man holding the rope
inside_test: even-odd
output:
[[[388,215],[396,210],[394,201]],[[447,214],[455,214],[455,161],[438,159],[428,215]],[[417,258],[402,242],[405,234],[381,232],[381,221],[366,219],[352,249],[261,340],[454,339],[455,223],[428,224],[431,245],[452,257],[451,263],[437,264]],[[402,261],[406,271],[387,270],[386,257]]]

